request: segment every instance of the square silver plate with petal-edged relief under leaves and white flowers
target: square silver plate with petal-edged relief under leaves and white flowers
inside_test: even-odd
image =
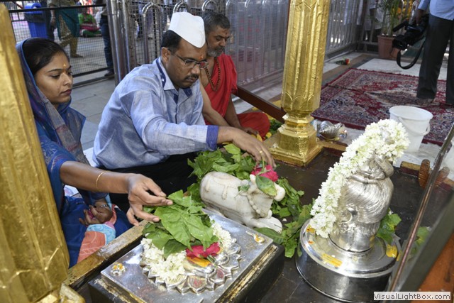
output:
[[[170,285],[150,275],[147,268],[140,265],[143,246],[139,245],[104,269],[101,277],[111,287],[134,297],[136,302],[218,301],[238,284],[238,278],[253,270],[257,260],[270,250],[272,240],[223,216],[209,216],[236,239],[209,268],[194,266],[192,275],[176,277],[175,284]]]

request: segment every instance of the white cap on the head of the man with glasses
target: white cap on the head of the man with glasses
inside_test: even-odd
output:
[[[205,44],[204,20],[199,16],[186,12],[173,13],[169,29],[196,48]]]

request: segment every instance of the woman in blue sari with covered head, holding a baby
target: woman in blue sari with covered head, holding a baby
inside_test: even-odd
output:
[[[134,216],[159,221],[143,211],[143,205],[172,202],[143,175],[108,172],[89,165],[80,143],[84,116],[70,107],[71,65],[60,45],[45,38],[30,38],[18,43],[16,50],[72,266],[131,224],[138,225]],[[77,187],[82,197],[65,197],[65,184]],[[111,204],[104,192],[128,193],[128,214]]]

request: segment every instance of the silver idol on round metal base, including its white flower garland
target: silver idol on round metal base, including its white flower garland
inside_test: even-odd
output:
[[[324,183],[335,184],[335,187],[336,182],[342,182],[337,184],[338,190],[326,185],[330,188],[327,190],[322,184],[321,197],[326,196],[321,199],[323,202],[319,205],[322,206],[314,204],[313,212],[316,209],[324,216],[315,215],[301,228],[302,255],[296,261],[300,274],[319,292],[345,302],[374,301],[374,292],[384,291],[400,252],[396,236],[388,244],[376,234],[380,221],[389,211],[394,189],[389,179],[394,167],[389,162],[392,159],[386,155],[401,155],[408,141],[406,135],[397,136],[397,140],[392,138],[392,128],[397,127],[396,133],[401,133],[399,126],[392,122],[382,124],[389,126],[389,131],[375,129],[372,136],[362,141],[362,146],[355,145],[359,146],[357,150],[345,151],[343,157],[350,160],[342,162],[341,158]],[[370,150],[368,145],[375,146]],[[349,165],[360,155],[366,156],[357,169],[348,177],[342,177],[339,172],[348,171]],[[333,197],[337,192],[335,210],[323,212],[326,211],[323,205],[330,199],[328,196]],[[329,226],[323,222],[329,220],[333,224],[323,229]]]

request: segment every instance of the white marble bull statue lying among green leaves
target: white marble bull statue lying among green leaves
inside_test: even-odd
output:
[[[248,185],[247,191],[239,191],[238,187]],[[240,180],[224,172],[209,172],[201,180],[200,197],[206,209],[216,211],[228,219],[245,224],[250,228],[267,227],[278,233],[282,231],[281,222],[273,218],[270,210],[272,200],[280,201],[285,197],[285,189],[275,184],[275,197],[258,189],[255,175],[250,181]]]

